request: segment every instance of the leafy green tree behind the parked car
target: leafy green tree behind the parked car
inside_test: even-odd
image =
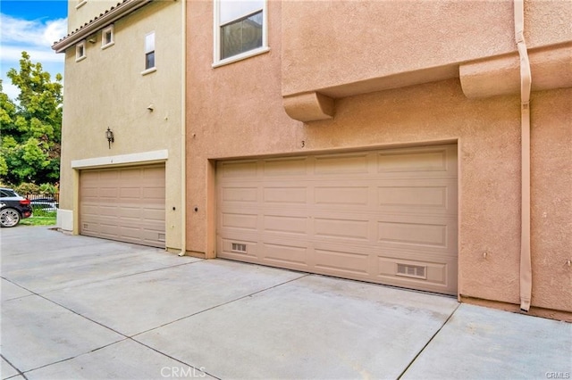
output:
[[[0,176],[20,185],[56,183],[62,142],[62,75],[51,80],[42,64],[21,53],[20,70],[7,73],[20,89],[16,101],[4,94],[0,80]]]

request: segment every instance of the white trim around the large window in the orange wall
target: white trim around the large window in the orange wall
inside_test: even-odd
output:
[[[270,47],[268,47],[268,0],[264,0],[262,4],[262,46],[257,47],[256,49],[248,50],[247,52],[231,55],[230,57],[224,59],[221,59],[221,25],[222,25],[220,22],[221,2],[220,0],[213,0],[213,3],[214,3],[213,7],[214,51],[213,51],[213,64],[211,65],[213,68],[224,66],[232,62],[242,61],[252,56],[265,54],[266,52],[270,51]],[[237,18],[236,20],[239,20],[239,18]],[[224,24],[228,24],[229,22],[231,21],[227,21]]]

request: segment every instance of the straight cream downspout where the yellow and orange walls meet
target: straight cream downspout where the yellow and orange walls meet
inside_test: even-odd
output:
[[[181,252],[187,253],[187,0],[181,0]]]

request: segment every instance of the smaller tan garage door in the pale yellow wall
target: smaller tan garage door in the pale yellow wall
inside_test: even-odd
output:
[[[164,247],[164,165],[80,172],[80,234]]]

